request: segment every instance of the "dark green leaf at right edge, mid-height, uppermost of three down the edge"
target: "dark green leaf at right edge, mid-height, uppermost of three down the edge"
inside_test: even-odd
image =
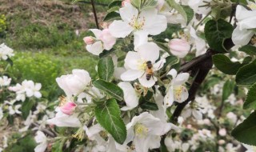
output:
[[[256,60],[242,66],[236,75],[235,81],[238,85],[252,85],[256,82]]]

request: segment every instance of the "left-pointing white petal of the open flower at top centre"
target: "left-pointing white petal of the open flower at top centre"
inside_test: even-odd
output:
[[[126,38],[134,28],[129,25],[129,22],[114,21],[110,24],[109,30],[115,38]]]

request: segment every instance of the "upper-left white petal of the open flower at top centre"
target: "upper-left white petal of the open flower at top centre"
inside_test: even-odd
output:
[[[138,10],[130,3],[126,3],[126,6],[119,9],[120,16],[123,21],[131,22],[133,18],[138,17]]]

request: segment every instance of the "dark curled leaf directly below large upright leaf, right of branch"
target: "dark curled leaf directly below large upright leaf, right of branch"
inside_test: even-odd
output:
[[[234,75],[243,65],[240,62],[231,62],[230,58],[224,54],[216,54],[213,56],[214,66],[224,74]]]

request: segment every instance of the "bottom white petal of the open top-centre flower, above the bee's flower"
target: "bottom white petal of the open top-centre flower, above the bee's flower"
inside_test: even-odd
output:
[[[137,50],[138,46],[148,42],[148,33],[143,30],[134,32],[134,48]]]

